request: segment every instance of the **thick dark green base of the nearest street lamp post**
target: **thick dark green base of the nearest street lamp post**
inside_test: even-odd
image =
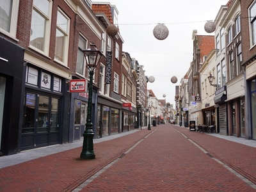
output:
[[[86,129],[83,133],[83,150],[80,154],[81,159],[95,159],[95,152],[93,150],[93,136],[92,129]]]

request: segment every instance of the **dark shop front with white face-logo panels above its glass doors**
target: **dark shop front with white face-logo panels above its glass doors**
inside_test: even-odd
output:
[[[67,142],[66,79],[31,63],[26,64],[21,150]]]

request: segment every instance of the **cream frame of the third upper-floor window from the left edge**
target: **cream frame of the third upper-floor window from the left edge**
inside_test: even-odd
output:
[[[67,31],[65,31],[63,28],[61,28],[61,26],[58,26],[58,24],[56,24],[56,35],[57,35],[57,31],[60,31],[63,35],[64,35],[64,44],[63,44],[63,61],[58,60],[58,57],[56,56],[56,51],[54,52],[54,61],[65,65],[66,67],[68,66],[68,44],[69,44],[69,33],[70,33],[70,19],[68,18],[68,16],[60,9],[58,8],[58,13],[60,13],[61,15],[63,15],[63,17],[65,17],[67,19]],[[58,20],[58,18],[57,18]],[[57,37],[57,36],[56,36]],[[56,38],[55,38],[56,40]],[[55,44],[56,46],[56,44]],[[56,50],[56,47],[55,47]]]

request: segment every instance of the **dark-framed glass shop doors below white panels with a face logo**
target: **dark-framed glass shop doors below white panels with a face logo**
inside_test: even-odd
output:
[[[21,150],[60,143],[60,99],[26,92]]]

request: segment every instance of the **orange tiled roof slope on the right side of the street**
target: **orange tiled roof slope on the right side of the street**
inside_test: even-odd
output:
[[[212,49],[215,49],[215,40],[213,35],[197,35],[197,39],[202,61],[203,56],[207,56]]]

